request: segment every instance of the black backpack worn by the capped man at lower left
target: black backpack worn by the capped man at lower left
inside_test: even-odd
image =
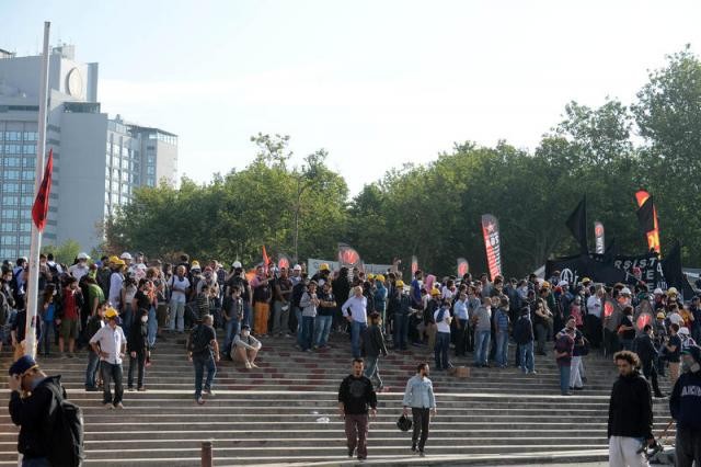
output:
[[[78,467],[85,458],[83,451],[83,411],[66,400],[60,386],[48,384],[56,409],[47,423],[48,460],[54,466]],[[51,420],[53,419],[53,420]]]

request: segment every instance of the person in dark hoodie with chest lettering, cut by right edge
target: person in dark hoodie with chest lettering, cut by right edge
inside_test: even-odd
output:
[[[701,465],[701,348],[682,351],[682,374],[669,399],[669,411],[677,421],[677,466]]]

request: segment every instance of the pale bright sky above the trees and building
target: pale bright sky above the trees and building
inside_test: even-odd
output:
[[[701,47],[698,1],[0,0],[0,48],[74,44],[103,112],[179,135],[180,174],[243,169],[252,135],[324,148],[350,194],[455,143],[535,149],[574,100],[634,100]]]

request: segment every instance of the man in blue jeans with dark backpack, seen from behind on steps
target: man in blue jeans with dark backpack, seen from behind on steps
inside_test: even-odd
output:
[[[202,378],[205,368],[207,369],[207,379],[205,380],[204,394],[211,396],[211,384],[217,373],[216,362],[219,362],[219,344],[215,328],[211,327],[212,322],[211,315],[205,315],[202,323],[193,329],[187,340],[188,358],[195,366],[195,402],[199,406],[205,403],[202,398]]]

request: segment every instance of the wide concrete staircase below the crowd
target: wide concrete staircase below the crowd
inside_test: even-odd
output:
[[[89,466],[197,466],[200,443],[212,441],[215,465],[354,464],[345,448],[343,421],[336,414],[338,384],[350,371],[346,334],[334,334],[329,349],[302,353],[294,339],[266,339],[260,369],[222,361],[215,396],[194,403],[194,371],[184,338],[164,334],[147,369],[147,392],[125,392],[125,410],[102,407],[102,392],[85,392],[87,357],[45,358],[48,374],[60,374],[71,400],[85,415]],[[513,353],[513,349],[512,349]],[[0,365],[10,364],[3,352]],[[586,358],[588,383],[572,397],[559,396],[552,356],[538,357],[537,375],[516,368],[471,368],[468,379],[443,372],[430,378],[438,417],[430,426],[427,457],[412,456],[411,435],[398,430],[406,379],[416,363],[433,355],[425,348],[393,353],[380,361],[388,391],[379,395],[371,422],[369,460],[388,465],[565,464],[607,460],[608,397],[616,377],[610,358]],[[509,362],[513,362],[513,357]],[[470,364],[453,358],[453,364]],[[126,371],[125,364],[125,386]],[[663,390],[669,390],[665,384]],[[7,407],[8,391],[0,391]],[[655,403],[658,434],[667,421],[667,400]],[[0,413],[0,466],[16,465],[16,429]],[[674,435],[674,433],[671,433]]]

